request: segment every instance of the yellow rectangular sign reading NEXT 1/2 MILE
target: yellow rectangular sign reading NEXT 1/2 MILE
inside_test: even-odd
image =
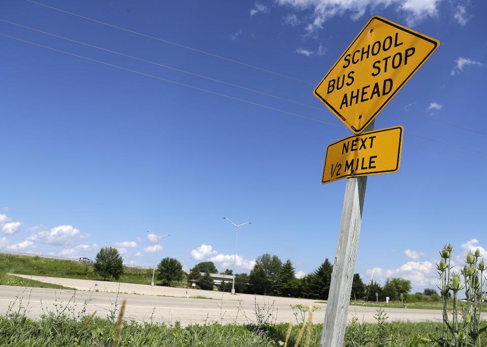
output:
[[[328,146],[322,184],[399,170],[402,126],[352,135]]]

